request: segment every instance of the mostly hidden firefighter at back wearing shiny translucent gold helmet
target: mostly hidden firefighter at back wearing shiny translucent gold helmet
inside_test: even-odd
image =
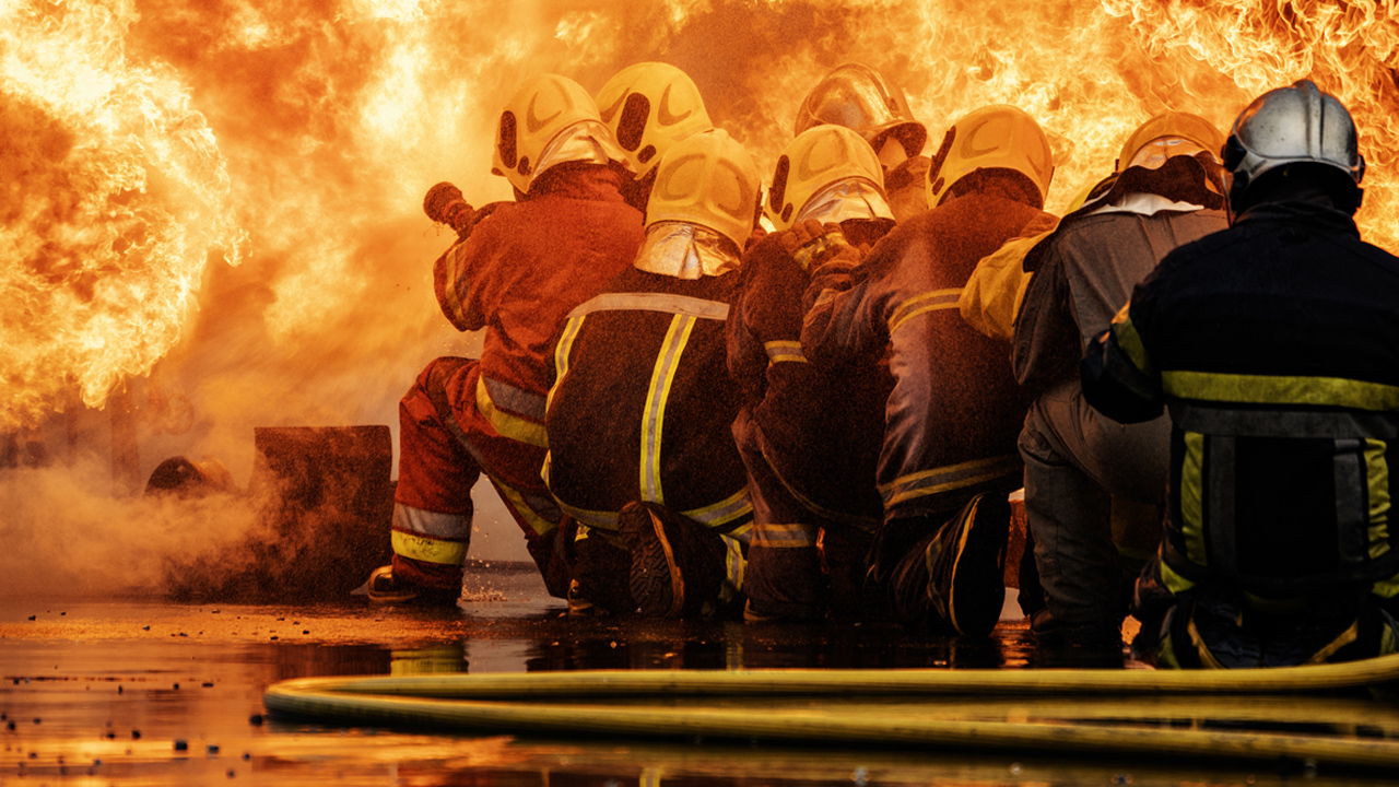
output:
[[[898,85],[862,63],[835,67],[802,101],[792,136],[823,125],[853,129],[870,143],[894,218],[907,221],[928,210],[930,160],[922,155],[928,127],[914,119]]]

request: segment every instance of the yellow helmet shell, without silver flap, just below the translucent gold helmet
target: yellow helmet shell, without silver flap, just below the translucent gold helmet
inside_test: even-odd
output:
[[[884,197],[884,172],[865,137],[844,126],[807,129],[778,157],[764,210],[776,230],[786,230],[800,218],[811,197],[848,181],[873,188],[872,196],[877,196],[884,217],[893,217]]]

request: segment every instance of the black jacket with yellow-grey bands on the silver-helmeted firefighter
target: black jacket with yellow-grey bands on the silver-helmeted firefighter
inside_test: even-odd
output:
[[[1168,255],[1084,360],[1109,417],[1172,420],[1163,577],[1399,595],[1399,259],[1349,216],[1259,206]]]

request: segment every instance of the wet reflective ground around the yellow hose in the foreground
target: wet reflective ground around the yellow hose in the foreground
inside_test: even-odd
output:
[[[569,619],[533,569],[476,566],[455,611],[369,605],[0,601],[0,784],[1384,784],[1305,765],[562,741],[274,720],[263,690],[320,675],[568,669],[1034,668],[1021,622],[977,643],[883,626]],[[1339,700],[1337,700],[1339,702]],[[1328,730],[1395,737],[1393,702],[1316,706]],[[1328,717],[1329,718],[1323,718]],[[1375,732],[1371,730],[1370,732]]]

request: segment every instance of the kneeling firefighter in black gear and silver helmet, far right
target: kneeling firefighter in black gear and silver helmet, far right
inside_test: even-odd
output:
[[[1360,239],[1350,113],[1308,80],[1223,148],[1227,230],[1167,255],[1083,360],[1108,417],[1171,417],[1165,534],[1133,651],[1277,667],[1395,650],[1399,259]]]

